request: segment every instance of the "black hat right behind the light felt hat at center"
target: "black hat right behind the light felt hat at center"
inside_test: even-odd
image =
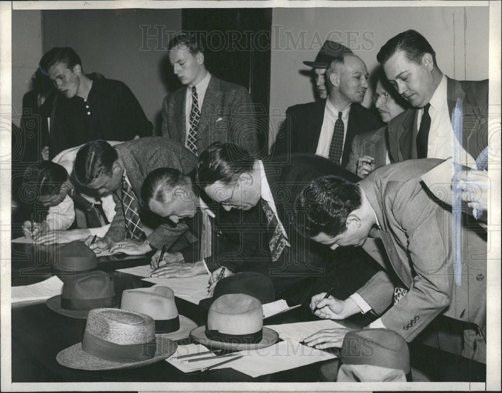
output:
[[[256,272],[241,272],[216,283],[213,297],[202,299],[199,306],[209,309],[215,299],[228,294],[244,294],[257,298],[262,304],[275,301],[274,285],[270,277]]]

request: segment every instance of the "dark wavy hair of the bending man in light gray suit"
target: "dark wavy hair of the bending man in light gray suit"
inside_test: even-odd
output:
[[[349,214],[361,207],[359,186],[338,176],[323,176],[305,186],[295,201],[295,221],[301,233],[337,236],[346,229]],[[303,217],[298,220],[298,217]],[[299,224],[299,222],[303,224]]]

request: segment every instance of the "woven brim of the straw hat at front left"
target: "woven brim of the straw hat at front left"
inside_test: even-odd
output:
[[[99,357],[89,355],[82,350],[82,343],[72,345],[63,349],[56,355],[59,364],[80,370],[114,370],[118,368],[138,368],[155,363],[171,356],[178,347],[174,341],[156,334],[157,349],[155,356],[148,360],[142,360],[132,363],[121,363],[111,360],[100,359]]]

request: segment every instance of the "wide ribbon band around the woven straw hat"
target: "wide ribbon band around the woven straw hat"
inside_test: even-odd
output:
[[[152,359],[157,350],[157,342],[154,337],[152,341],[146,343],[120,345],[85,332],[82,339],[82,350],[100,359],[132,363]]]

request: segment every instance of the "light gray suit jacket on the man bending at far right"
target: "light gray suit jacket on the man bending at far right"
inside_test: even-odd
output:
[[[381,225],[389,274],[409,292],[392,306],[394,284],[374,275],[357,293],[383,324],[413,340],[437,315],[479,326],[486,333],[486,236],[462,216],[459,246],[452,245],[452,214],[428,192],[421,176],[442,161],[423,159],[391,164],[359,182]],[[461,284],[454,282],[453,255],[460,252]],[[398,281],[398,282],[399,282]],[[485,336],[486,337],[486,336]]]

